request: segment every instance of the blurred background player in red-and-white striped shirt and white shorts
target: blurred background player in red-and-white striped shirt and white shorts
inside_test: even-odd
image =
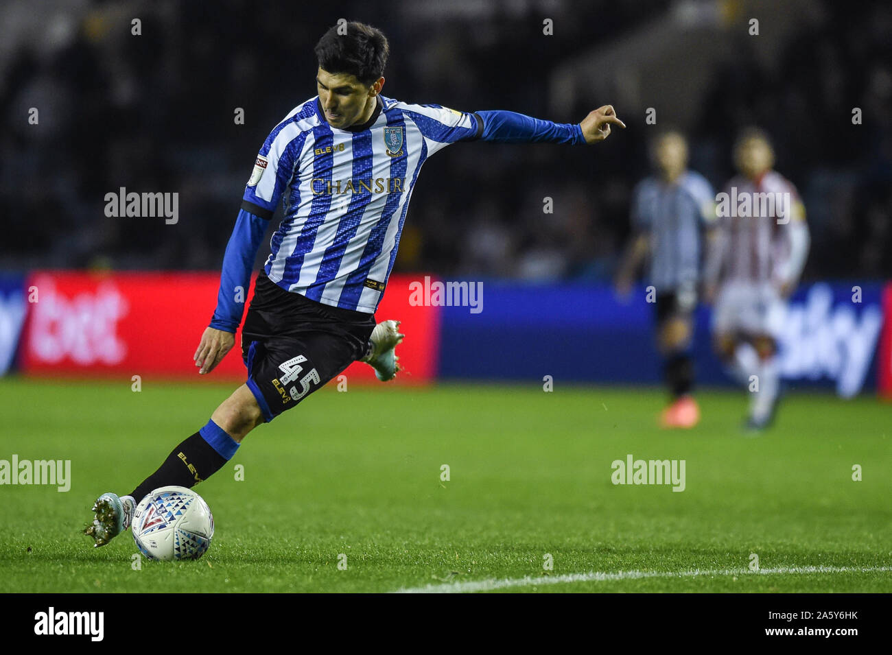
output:
[[[714,348],[751,394],[747,430],[760,431],[777,408],[777,342],[809,233],[796,187],[772,170],[774,152],[762,130],[741,133],[734,161],[740,175],[717,197],[706,295],[715,301]]]

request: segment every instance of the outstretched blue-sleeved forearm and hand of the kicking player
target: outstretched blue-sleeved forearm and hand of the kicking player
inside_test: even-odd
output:
[[[614,108],[606,104],[582,119],[581,123],[553,123],[533,119],[516,111],[475,111],[479,138],[494,143],[598,143],[610,135],[610,126],[625,127]]]

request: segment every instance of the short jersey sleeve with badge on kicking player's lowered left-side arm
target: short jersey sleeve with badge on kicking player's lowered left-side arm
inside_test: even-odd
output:
[[[263,218],[272,217],[294,174],[306,138],[293,121],[274,129],[260,148],[248,184],[244,187],[242,209]]]

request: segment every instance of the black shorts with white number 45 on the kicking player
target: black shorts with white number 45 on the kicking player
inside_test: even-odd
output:
[[[285,291],[260,273],[242,329],[242,359],[270,422],[365,356],[375,315]]]

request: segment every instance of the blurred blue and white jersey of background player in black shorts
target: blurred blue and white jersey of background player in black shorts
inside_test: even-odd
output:
[[[677,291],[698,282],[701,236],[715,220],[714,195],[706,178],[685,171],[672,184],[651,176],[632,193],[632,226],[650,237],[648,283]]]

